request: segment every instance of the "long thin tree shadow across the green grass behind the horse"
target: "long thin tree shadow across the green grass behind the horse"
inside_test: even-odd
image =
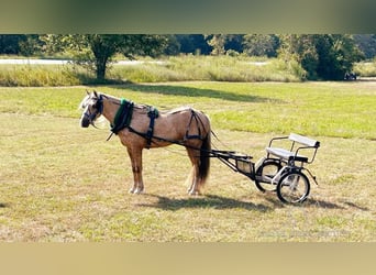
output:
[[[229,101],[243,101],[243,102],[280,102],[280,100],[253,96],[252,92],[247,95],[239,95],[225,90],[213,90],[213,89],[200,89],[185,86],[169,86],[169,85],[118,85],[111,86],[111,88],[129,89],[133,91],[147,92],[147,94],[161,94],[168,96],[183,96],[183,97],[206,97],[206,98],[218,98]],[[141,102],[140,102],[141,103]]]

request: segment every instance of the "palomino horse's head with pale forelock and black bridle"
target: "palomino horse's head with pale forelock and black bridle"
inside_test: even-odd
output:
[[[103,112],[103,98],[102,95],[97,91],[88,92],[84,98],[79,107],[84,109],[81,116],[81,127],[88,128],[90,124],[93,125],[96,119],[98,119]]]

